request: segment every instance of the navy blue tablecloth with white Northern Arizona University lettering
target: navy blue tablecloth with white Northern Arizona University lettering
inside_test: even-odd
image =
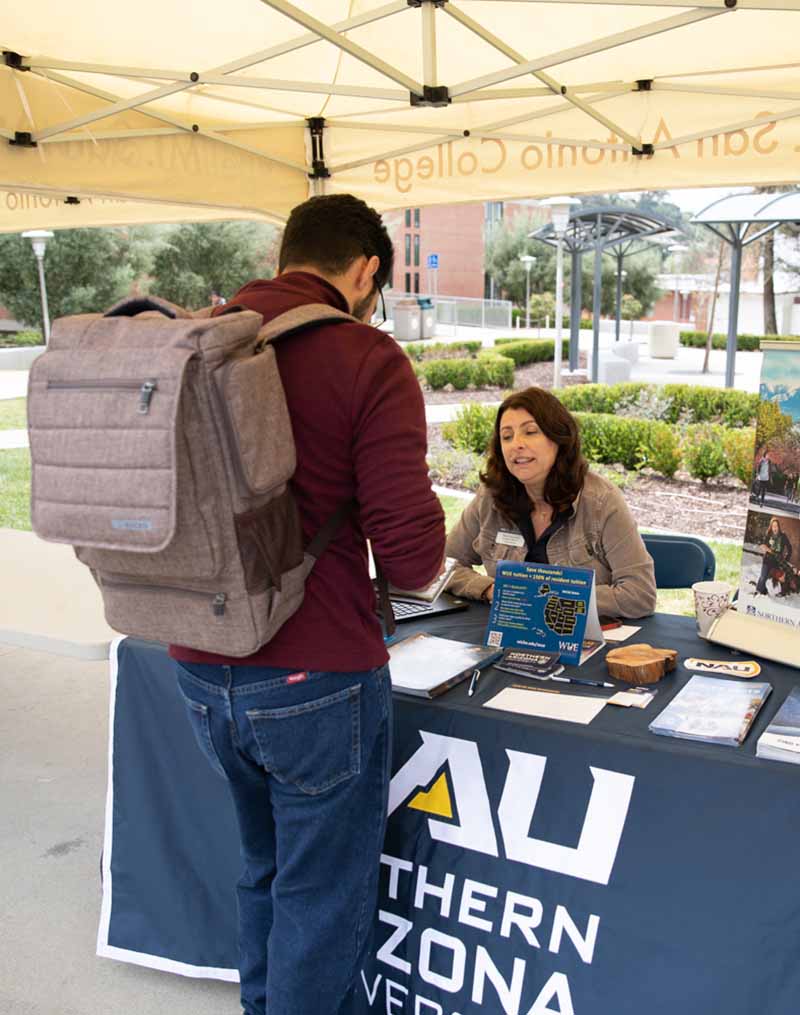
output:
[[[485,617],[474,607],[431,629],[480,640]],[[632,640],[729,656],[680,617],[654,617]],[[98,952],[235,979],[224,783],[194,743],[163,647],[125,639],[112,669]],[[581,675],[604,672],[600,655]],[[514,680],[494,670],[473,698],[465,684],[430,702],[396,696],[358,1013],[797,1015],[800,769],[754,751],[800,673],[763,664],[775,690],[740,748],[648,732],[689,676],[679,667],[647,709],[606,706],[589,726],[482,708]]]

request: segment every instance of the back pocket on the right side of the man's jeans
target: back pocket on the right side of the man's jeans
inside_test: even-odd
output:
[[[360,684],[284,708],[249,708],[264,767],[312,796],[360,771]]]

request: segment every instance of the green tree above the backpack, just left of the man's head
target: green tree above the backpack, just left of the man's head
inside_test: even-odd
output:
[[[207,307],[212,289],[231,296],[253,278],[271,278],[277,230],[262,222],[196,222],[169,232],[155,254],[150,291],[182,307]]]

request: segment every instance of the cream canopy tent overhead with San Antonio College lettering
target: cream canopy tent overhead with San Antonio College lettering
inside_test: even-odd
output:
[[[797,173],[800,0],[2,2],[12,190],[280,218]]]

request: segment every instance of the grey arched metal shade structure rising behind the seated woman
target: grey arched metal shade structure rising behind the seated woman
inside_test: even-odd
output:
[[[602,290],[603,254],[614,254],[617,262],[617,338],[619,337],[619,306],[621,301],[622,261],[640,254],[651,244],[647,240],[672,235],[675,225],[660,215],[617,205],[574,208],[563,235],[564,248],[572,259],[570,289],[570,369],[578,366],[578,341],[581,323],[581,262],[584,254],[594,252],[594,285],[592,307],[592,378],[597,382],[600,351],[600,296]],[[532,240],[557,247],[552,223],[530,233]]]

